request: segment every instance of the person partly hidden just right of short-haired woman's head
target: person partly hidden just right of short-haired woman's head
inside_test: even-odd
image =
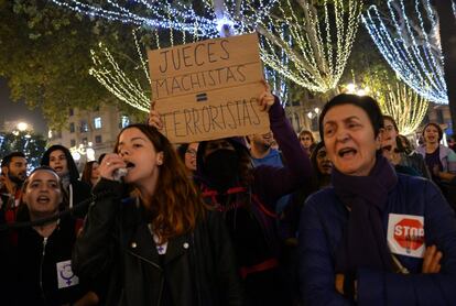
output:
[[[397,172],[431,179],[423,157],[403,146],[399,139],[398,124],[391,116],[383,116],[381,147],[383,156],[391,162]]]

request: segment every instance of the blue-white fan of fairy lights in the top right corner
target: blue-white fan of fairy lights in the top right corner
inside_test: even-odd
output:
[[[414,11],[410,14],[403,0],[389,0],[388,8],[389,26],[376,6],[362,15],[377,47],[400,78],[420,96],[448,103],[438,20],[430,1],[414,0]],[[426,29],[431,29],[430,33]]]

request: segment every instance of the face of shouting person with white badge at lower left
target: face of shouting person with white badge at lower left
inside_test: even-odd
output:
[[[58,210],[63,199],[61,178],[48,170],[37,170],[28,179],[22,196],[31,216],[47,217]]]

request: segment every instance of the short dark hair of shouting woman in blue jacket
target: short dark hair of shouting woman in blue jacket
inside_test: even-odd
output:
[[[357,96],[357,95],[349,95],[349,94],[341,94],[333,99],[330,99],[322,110],[318,119],[318,129],[319,129],[319,136],[322,141],[324,141],[324,127],[323,127],[323,119],[325,118],[326,113],[329,109],[343,106],[343,105],[352,105],[359,107],[363,111],[366,111],[367,116],[369,117],[370,123],[373,128],[373,135],[377,138],[380,133],[380,129],[383,128],[383,114],[381,113],[381,109],[378,102],[369,96]]]

